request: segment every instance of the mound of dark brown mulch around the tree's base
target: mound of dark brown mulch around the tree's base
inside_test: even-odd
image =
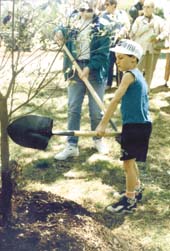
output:
[[[77,203],[50,193],[18,192],[13,214],[14,221],[0,227],[1,251],[142,250]]]

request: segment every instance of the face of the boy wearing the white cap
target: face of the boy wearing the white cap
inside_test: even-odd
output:
[[[137,59],[134,56],[116,53],[116,64],[119,71],[127,71],[136,66]]]

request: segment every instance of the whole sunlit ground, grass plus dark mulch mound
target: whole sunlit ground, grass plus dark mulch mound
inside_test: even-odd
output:
[[[124,189],[120,149],[114,139],[106,139],[110,153],[102,156],[95,152],[91,139],[81,138],[80,157],[65,162],[54,161],[65,137],[52,137],[46,151],[22,148],[10,141],[11,158],[17,161],[19,172],[12,222],[0,227],[0,250],[169,251],[170,89],[163,86],[164,65],[163,57],[150,92],[154,127],[148,161],[140,165],[145,190],[137,211],[131,215],[105,211]],[[51,116],[59,130],[65,130],[67,121],[65,87],[63,80],[52,83],[55,95],[38,111]],[[106,105],[114,91],[106,93]],[[82,129],[86,130],[87,105],[83,109]],[[119,112],[113,119],[119,130]]]

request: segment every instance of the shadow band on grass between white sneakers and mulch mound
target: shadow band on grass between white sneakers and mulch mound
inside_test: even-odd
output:
[[[100,178],[102,183],[122,189],[125,182],[123,170],[107,160],[97,160],[89,164],[87,159],[94,152],[93,149],[84,149],[80,157],[70,158],[68,161],[55,161],[53,158],[38,159],[24,167],[22,176],[25,181],[32,180],[50,184],[65,179],[64,174],[74,169],[78,172],[83,171],[85,179]],[[79,179],[79,176],[77,178]]]

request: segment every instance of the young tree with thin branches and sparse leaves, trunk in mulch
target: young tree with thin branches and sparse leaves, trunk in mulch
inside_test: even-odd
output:
[[[22,2],[22,1],[19,1]],[[47,10],[47,17],[50,19],[44,21],[44,12],[41,13],[40,10],[34,10],[31,20],[28,20],[29,27],[31,28],[31,35],[29,38],[34,37],[36,40],[36,46],[30,51],[25,52],[24,49],[24,36],[25,30],[20,27],[21,14],[15,10],[16,4],[13,0],[13,10],[12,10],[12,24],[11,33],[8,41],[9,46],[0,48],[0,123],[1,123],[1,181],[2,189],[0,195],[0,214],[2,215],[3,223],[10,221],[12,216],[12,194],[13,194],[13,182],[12,182],[12,171],[17,165],[15,162],[10,162],[10,149],[7,135],[7,127],[11,119],[14,119],[22,114],[26,115],[42,107],[49,98],[55,95],[54,89],[50,89],[50,85],[54,79],[57,78],[60,70],[56,68],[56,60],[58,54],[64,47],[54,48],[54,52],[48,50],[42,50],[41,41],[50,42],[52,36],[52,30],[55,25],[59,25],[64,22],[68,29],[72,29],[72,24],[74,27],[74,16],[71,20],[72,13],[65,13],[69,9],[68,6],[63,6],[59,8],[54,7],[54,2],[51,3],[51,9],[53,11],[53,16],[50,16],[49,9]],[[76,1],[73,1],[74,10]],[[20,9],[22,9],[20,7]],[[15,15],[17,13],[17,15]],[[74,12],[73,12],[74,13]],[[78,17],[79,18],[79,15]],[[19,26],[16,23],[19,21]],[[38,20],[38,21],[37,21]],[[39,23],[38,23],[39,22]],[[38,24],[37,24],[38,23]],[[33,29],[34,27],[34,29]],[[50,29],[50,27],[52,27]],[[17,28],[17,29],[16,29]],[[75,27],[74,27],[75,28]],[[81,28],[79,27],[80,32]],[[27,29],[26,29],[27,30]],[[22,32],[21,32],[22,31]],[[38,31],[38,36],[37,36]],[[72,30],[70,30],[71,32]],[[71,33],[72,34],[72,33]],[[102,33],[101,33],[102,35]],[[26,40],[28,37],[26,36]],[[70,39],[70,38],[68,38]],[[38,42],[37,42],[38,41]],[[66,42],[66,41],[65,41]],[[50,43],[49,43],[50,44]],[[74,59],[73,59],[74,60]],[[72,61],[72,60],[71,60]],[[45,67],[44,63],[45,62]],[[38,97],[48,89],[48,93],[44,95],[41,99]],[[38,99],[39,103],[36,103],[35,108],[31,109],[30,104],[34,100]],[[29,109],[27,108],[29,105]]]

